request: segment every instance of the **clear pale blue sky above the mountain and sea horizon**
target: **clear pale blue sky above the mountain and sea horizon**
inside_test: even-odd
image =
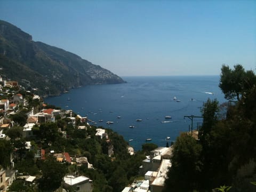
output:
[[[256,68],[256,1],[1,0],[0,19],[119,76]]]

